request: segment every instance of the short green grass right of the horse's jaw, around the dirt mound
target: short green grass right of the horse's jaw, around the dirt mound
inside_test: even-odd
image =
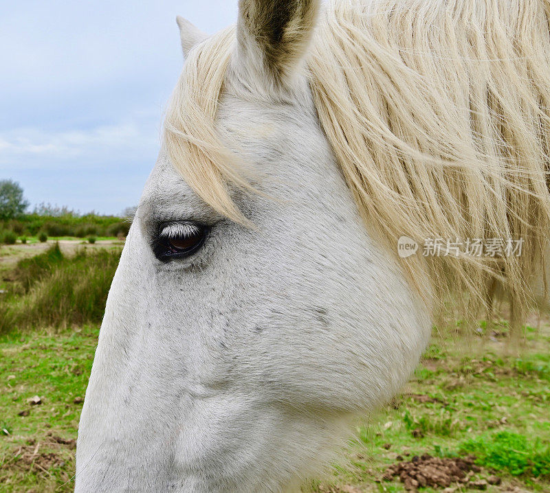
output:
[[[489,492],[511,486],[550,491],[549,333],[545,326],[535,334],[537,344],[528,343],[521,358],[505,356],[504,342],[486,347],[482,356],[461,354],[447,341],[432,344],[401,397],[358,426],[344,453],[345,466],[314,491],[404,492],[397,480],[375,480],[397,457],[425,453],[474,453],[483,467],[475,477],[496,472],[503,479],[500,486],[489,485]],[[420,402],[419,396],[431,402]]]

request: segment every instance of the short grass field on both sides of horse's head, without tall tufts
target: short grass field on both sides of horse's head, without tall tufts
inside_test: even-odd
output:
[[[388,467],[474,454],[470,481],[447,492],[549,492],[550,325],[527,328],[520,352],[505,329],[497,325],[483,344],[435,336],[401,395],[358,423],[342,465],[308,491],[401,492],[398,477],[383,479]],[[78,418],[97,337],[97,324],[0,336],[0,492],[74,488]]]

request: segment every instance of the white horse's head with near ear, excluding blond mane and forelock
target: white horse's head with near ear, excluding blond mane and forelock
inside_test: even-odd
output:
[[[241,5],[217,121],[258,170],[261,193],[232,194],[252,227],[160,152],[109,294],[78,492],[287,490],[417,364],[426,310],[366,233],[307,85],[315,10]],[[179,24],[184,49],[201,40]]]

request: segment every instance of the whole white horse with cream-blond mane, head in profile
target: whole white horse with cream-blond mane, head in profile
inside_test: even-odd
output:
[[[516,310],[536,294],[547,1],[318,3],[241,0],[210,38],[178,18],[186,64],[109,293],[78,493],[298,490],[404,385],[449,286],[468,310],[495,282]],[[399,236],[526,250],[400,259]]]

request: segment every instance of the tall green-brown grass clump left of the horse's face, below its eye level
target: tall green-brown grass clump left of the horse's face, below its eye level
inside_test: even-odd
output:
[[[100,323],[120,251],[63,255],[58,245],[19,262],[19,297],[0,301],[0,332]]]

